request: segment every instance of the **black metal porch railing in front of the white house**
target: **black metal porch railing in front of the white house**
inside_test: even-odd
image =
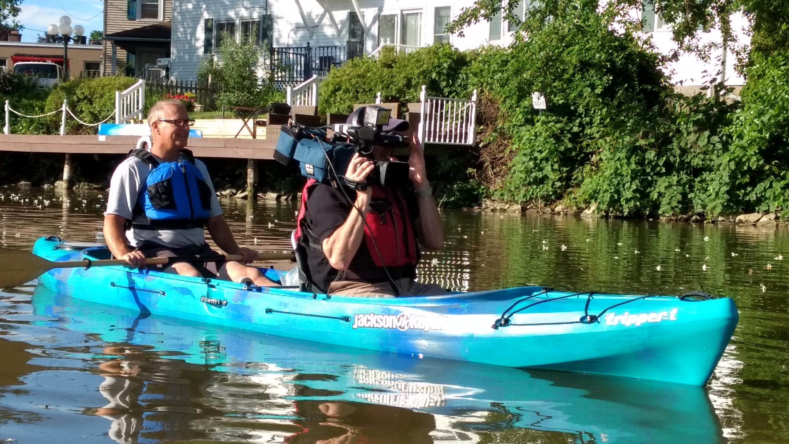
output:
[[[275,82],[302,82],[326,77],[332,66],[348,60],[348,47],[272,47],[271,77]]]

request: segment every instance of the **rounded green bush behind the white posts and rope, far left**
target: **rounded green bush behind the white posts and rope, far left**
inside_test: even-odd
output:
[[[68,100],[69,109],[83,122],[98,123],[115,111],[115,92],[123,91],[137,81],[133,77],[79,77],[58,84],[47,97],[46,111],[54,111]],[[61,115],[48,120],[50,127],[60,128]],[[114,122],[110,118],[108,122]],[[95,126],[84,126],[70,115],[66,118],[66,134],[95,134]],[[57,131],[56,131],[57,132]]]

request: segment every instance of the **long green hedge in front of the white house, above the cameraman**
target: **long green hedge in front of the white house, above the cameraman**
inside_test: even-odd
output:
[[[319,112],[350,113],[353,103],[375,103],[378,92],[384,103],[418,102],[422,85],[430,96],[466,98],[462,70],[467,63],[466,53],[448,44],[410,54],[384,47],[378,58],[353,58],[333,68],[320,84]]]

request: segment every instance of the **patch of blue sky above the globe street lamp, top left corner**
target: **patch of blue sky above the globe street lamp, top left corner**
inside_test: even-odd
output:
[[[46,32],[48,24],[60,23],[64,15],[71,17],[72,26],[81,24],[86,36],[91,31],[101,31],[104,26],[102,0],[23,0],[21,8],[17,21],[24,26],[23,42],[35,42],[39,34]]]

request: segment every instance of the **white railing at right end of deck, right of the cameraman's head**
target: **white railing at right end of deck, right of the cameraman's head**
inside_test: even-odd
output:
[[[419,95],[419,140],[422,143],[474,145],[477,140],[477,90],[471,100]]]

